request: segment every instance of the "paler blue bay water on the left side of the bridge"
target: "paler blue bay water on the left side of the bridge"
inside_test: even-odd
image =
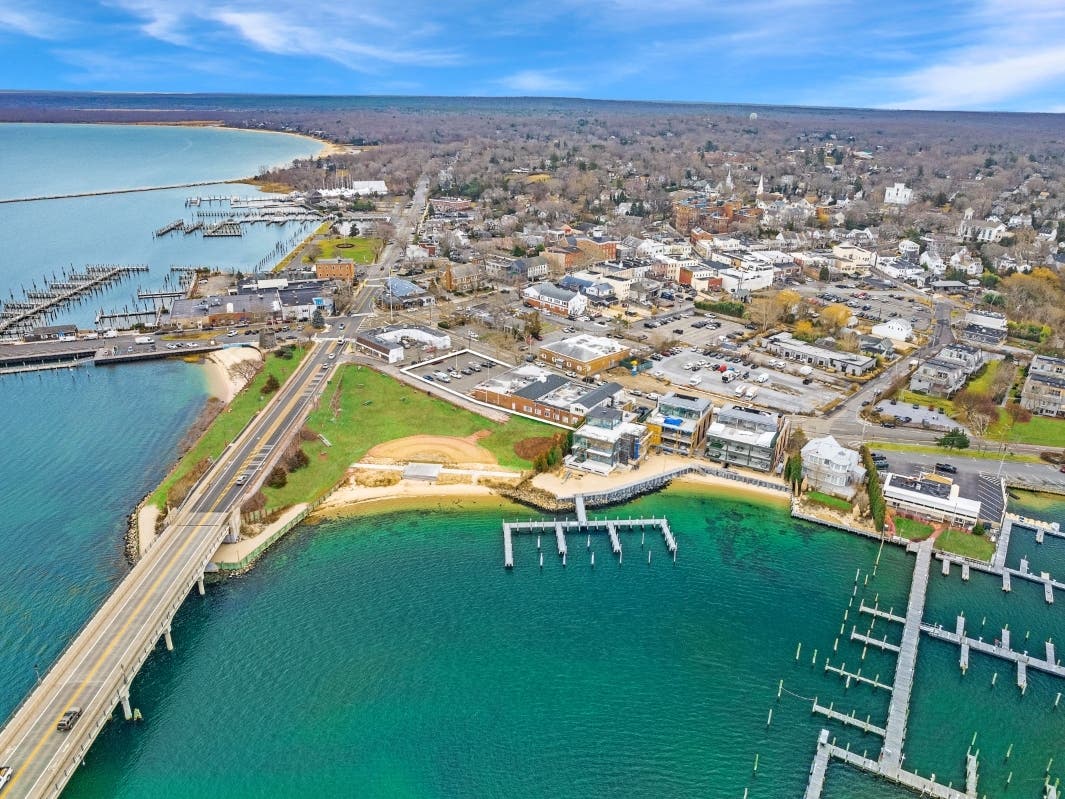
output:
[[[0,194],[224,179],[315,149],[308,140],[234,131],[0,125]],[[144,287],[162,284],[171,263],[239,268],[291,232],[275,226],[239,240],[152,239],[154,228],[184,214],[192,191],[0,205],[0,297],[86,263],[149,263],[151,273],[137,278]],[[129,304],[135,286],[122,283],[56,321],[91,326],[97,307]],[[52,663],[126,573],[126,518],[169,468],[204,399],[202,370],[180,361],[0,375],[6,454],[0,460],[0,716],[29,690],[34,666]]]

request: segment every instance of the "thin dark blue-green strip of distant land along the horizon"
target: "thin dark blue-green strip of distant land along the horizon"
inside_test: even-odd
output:
[[[59,97],[160,97],[160,98],[212,98],[212,97],[246,97],[246,98],[289,98],[289,99],[314,99],[325,98],[332,100],[340,99],[403,99],[403,100],[486,100],[486,101],[535,101],[535,102],[567,102],[567,103],[623,103],[623,104],[650,104],[650,105],[682,105],[682,107],[738,107],[742,109],[785,109],[794,111],[843,111],[843,112],[867,112],[876,114],[1009,114],[1013,116],[1041,115],[1041,116],[1062,116],[1065,110],[1054,111],[1023,111],[1009,109],[924,109],[924,108],[878,108],[871,105],[816,105],[789,102],[755,102],[743,100],[685,100],[685,99],[645,99],[645,98],[623,98],[623,97],[583,97],[570,95],[473,95],[473,94],[404,94],[404,93],[328,93],[328,92],[241,92],[241,91],[218,91],[218,92],[170,92],[170,91],[121,91],[121,89],[76,89],[76,88],[2,88],[0,96],[59,96]],[[147,110],[147,109],[144,109]],[[177,110],[177,109],[176,109]]]

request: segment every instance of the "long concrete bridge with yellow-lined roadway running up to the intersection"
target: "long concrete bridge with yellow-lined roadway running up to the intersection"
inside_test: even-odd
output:
[[[130,684],[163,639],[173,649],[170,622],[196,587],[211,556],[240,532],[240,508],[301,426],[325,380],[337,344],[318,345],[277,396],[231,443],[195,486],[168,524],[85,624],[33,691],[0,730],[0,765],[14,774],[3,799],[58,796],[100,729],[121,706],[132,714]],[[259,464],[255,476],[239,475]],[[69,732],[59,732],[63,714],[80,707]]]

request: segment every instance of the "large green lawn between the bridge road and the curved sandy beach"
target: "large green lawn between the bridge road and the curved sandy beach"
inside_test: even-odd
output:
[[[323,496],[351,463],[384,441],[415,435],[470,436],[490,430],[477,443],[502,466],[528,469],[532,464],[514,454],[514,444],[558,433],[557,428],[521,417],[513,417],[506,424],[492,422],[355,364],[344,366],[333,377],[307,426],[324,436],[330,445],[321,439],[304,443],[310,464],[290,473],[284,487],[263,489],[269,508]]]

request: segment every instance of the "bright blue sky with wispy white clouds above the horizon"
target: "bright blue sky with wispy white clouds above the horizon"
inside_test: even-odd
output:
[[[0,0],[0,88],[1065,112],[1065,0]]]

